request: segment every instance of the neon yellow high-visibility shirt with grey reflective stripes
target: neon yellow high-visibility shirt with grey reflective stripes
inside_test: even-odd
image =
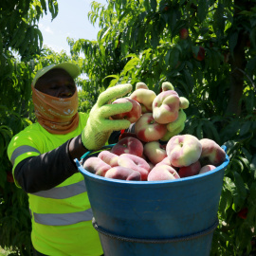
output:
[[[14,136],[8,149],[13,171],[28,156],[44,154],[80,135],[88,115],[79,115],[79,127],[67,135],[50,134],[34,123]],[[52,256],[103,253],[99,234],[92,226],[93,215],[82,174],[73,174],[51,190],[28,193],[28,202],[31,240],[36,250]]]

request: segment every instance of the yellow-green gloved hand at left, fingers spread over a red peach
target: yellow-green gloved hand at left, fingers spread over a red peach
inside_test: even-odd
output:
[[[126,119],[109,119],[113,115],[128,112],[131,102],[111,104],[110,101],[120,98],[132,90],[130,83],[119,84],[102,92],[91,109],[86,126],[82,130],[82,144],[88,150],[98,150],[105,145],[113,131],[127,129],[131,122]]]

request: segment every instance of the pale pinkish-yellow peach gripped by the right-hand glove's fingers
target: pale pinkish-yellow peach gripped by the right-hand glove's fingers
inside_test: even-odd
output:
[[[174,90],[159,93],[153,101],[153,117],[158,123],[169,123],[178,117],[179,97]]]

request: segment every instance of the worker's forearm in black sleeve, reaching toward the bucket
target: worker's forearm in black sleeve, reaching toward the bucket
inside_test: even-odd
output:
[[[75,137],[55,150],[21,161],[14,171],[18,184],[25,192],[46,191],[77,173],[73,159],[86,152],[80,140]]]

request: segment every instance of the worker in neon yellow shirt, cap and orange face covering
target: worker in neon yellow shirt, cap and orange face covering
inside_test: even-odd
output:
[[[75,165],[89,150],[99,150],[128,120],[110,116],[132,104],[109,104],[129,93],[129,83],[102,92],[89,114],[78,112],[80,75],[75,64],[52,64],[39,70],[31,84],[37,122],[12,137],[8,155],[16,186],[28,194],[34,255],[103,255],[84,179]]]

